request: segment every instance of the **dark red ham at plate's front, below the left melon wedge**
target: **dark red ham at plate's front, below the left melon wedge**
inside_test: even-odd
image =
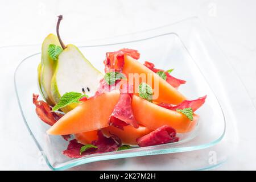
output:
[[[98,131],[98,139],[94,140],[92,144],[94,146],[97,146],[98,148],[90,148],[80,155],[80,149],[82,146],[84,146],[81,143],[78,143],[76,139],[73,139],[69,142],[67,150],[63,151],[63,154],[65,156],[68,156],[69,158],[82,158],[83,156],[89,155],[89,154],[100,154],[104,152],[112,152],[116,151],[119,146],[121,146],[121,143],[116,142],[116,138],[112,137],[104,137],[101,131]]]

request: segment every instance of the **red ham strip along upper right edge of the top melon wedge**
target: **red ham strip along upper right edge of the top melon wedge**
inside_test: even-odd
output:
[[[164,71],[163,69],[155,68],[155,65],[153,63],[145,61],[144,65],[155,73],[159,71],[163,71],[164,73],[166,73],[166,81],[176,89],[178,89],[181,84],[185,84],[186,82],[185,80],[180,80],[178,78],[171,76],[168,72]]]

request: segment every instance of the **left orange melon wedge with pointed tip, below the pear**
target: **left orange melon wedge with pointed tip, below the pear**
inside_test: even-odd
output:
[[[61,117],[47,133],[51,135],[76,134],[109,126],[108,120],[119,96],[119,90],[113,90],[82,102]]]

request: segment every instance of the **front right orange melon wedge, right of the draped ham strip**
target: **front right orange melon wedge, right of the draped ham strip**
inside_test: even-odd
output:
[[[168,125],[177,133],[186,133],[196,126],[196,121],[190,121],[184,114],[160,107],[137,96],[133,97],[131,105],[135,119],[151,130]]]

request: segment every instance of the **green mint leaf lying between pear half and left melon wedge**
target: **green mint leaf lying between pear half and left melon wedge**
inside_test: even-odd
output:
[[[77,92],[67,92],[62,97],[60,97],[59,102],[52,108],[52,111],[56,111],[72,103],[79,103],[79,99],[82,97],[88,96],[86,94],[81,94]]]

